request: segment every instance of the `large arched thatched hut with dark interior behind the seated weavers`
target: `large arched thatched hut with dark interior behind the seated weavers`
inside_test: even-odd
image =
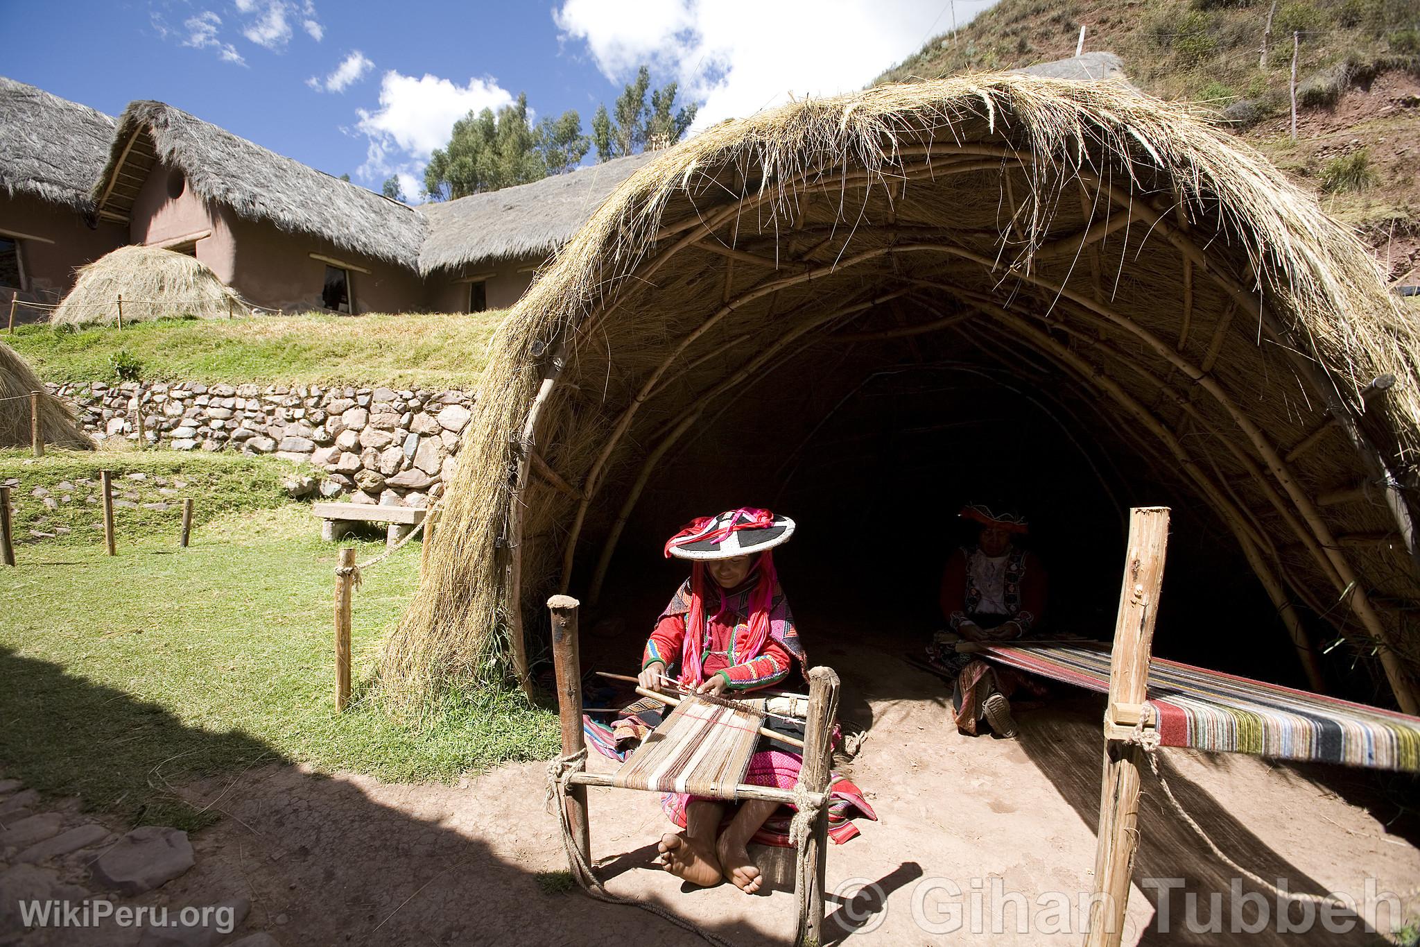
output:
[[[1416,708],[1414,325],[1187,106],[976,75],[726,122],[630,177],[494,351],[396,689],[537,646],[548,591],[621,596],[618,544],[655,568],[694,513],[797,515],[846,605],[930,581],[1004,490],[1068,537],[1056,615],[1092,620],[1091,586],[1112,612],[1122,508],[1172,503],[1180,649],[1314,686],[1375,656],[1366,696]]]

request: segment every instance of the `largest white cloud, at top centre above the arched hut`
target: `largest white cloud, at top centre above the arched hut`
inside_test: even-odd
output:
[[[983,3],[963,0],[973,13]],[[943,0],[564,0],[564,40],[612,82],[640,64],[703,102],[696,128],[788,101],[859,89],[950,28]],[[966,23],[957,11],[957,26]]]

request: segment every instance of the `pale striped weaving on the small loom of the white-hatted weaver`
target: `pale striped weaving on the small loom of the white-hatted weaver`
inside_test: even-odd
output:
[[[741,703],[753,710],[686,696],[616,770],[612,785],[736,798],[764,726],[763,701]]]

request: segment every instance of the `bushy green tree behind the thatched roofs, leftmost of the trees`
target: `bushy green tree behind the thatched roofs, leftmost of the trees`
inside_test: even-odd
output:
[[[537,145],[525,94],[497,115],[487,108],[469,112],[454,122],[447,148],[436,148],[429,159],[425,190],[435,200],[453,200],[538,180],[547,176],[547,163]]]

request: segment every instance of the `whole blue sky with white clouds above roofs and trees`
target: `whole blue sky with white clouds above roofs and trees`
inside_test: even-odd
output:
[[[0,72],[118,115],[153,98],[417,199],[429,150],[518,92],[589,128],[642,62],[697,125],[863,87],[993,0],[0,0]]]

